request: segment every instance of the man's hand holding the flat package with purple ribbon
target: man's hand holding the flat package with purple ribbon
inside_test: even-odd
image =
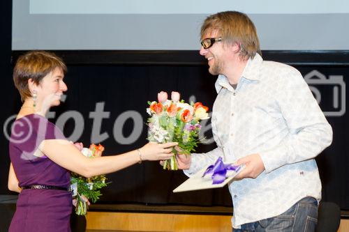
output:
[[[235,179],[256,178],[265,170],[262,159],[259,154],[251,154],[237,160],[237,165],[245,164],[245,168],[237,174]]]

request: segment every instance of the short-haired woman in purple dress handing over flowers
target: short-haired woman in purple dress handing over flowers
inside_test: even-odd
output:
[[[70,231],[70,173],[85,177],[111,173],[142,160],[166,160],[168,144],[146,144],[121,155],[89,159],[45,118],[67,91],[66,65],[49,52],[28,52],[15,65],[13,79],[24,101],[10,139],[8,189],[20,192],[9,231]]]

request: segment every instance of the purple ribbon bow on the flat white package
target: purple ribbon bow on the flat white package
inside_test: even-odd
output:
[[[202,177],[206,175],[211,175],[212,184],[217,185],[223,183],[223,181],[227,178],[227,171],[239,171],[241,168],[240,165],[232,165],[232,164],[223,164],[222,157],[218,157],[216,163],[214,165],[210,165]]]

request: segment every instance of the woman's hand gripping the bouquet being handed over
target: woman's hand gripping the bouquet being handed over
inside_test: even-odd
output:
[[[176,142],[166,144],[149,142],[140,148],[142,160],[168,160],[174,155],[174,153],[172,153],[173,146],[177,145],[178,143]]]

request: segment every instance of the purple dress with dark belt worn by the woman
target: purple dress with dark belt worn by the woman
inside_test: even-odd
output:
[[[29,114],[13,123],[10,160],[19,185],[69,187],[70,173],[38,151],[45,139],[66,139],[50,121]],[[22,190],[10,232],[70,231],[72,196],[64,190]]]

